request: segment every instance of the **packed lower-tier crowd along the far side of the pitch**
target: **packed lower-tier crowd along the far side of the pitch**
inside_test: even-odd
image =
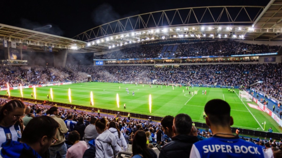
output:
[[[17,87],[45,84],[51,81],[83,82],[88,75],[94,81],[132,82],[155,84],[222,85],[245,86],[263,81],[252,88],[264,92],[277,100],[282,100],[282,64],[217,64],[180,65],[178,67],[155,66],[82,66],[69,65],[66,68],[54,67],[13,67],[0,66],[0,85]],[[72,73],[73,72],[73,73]]]

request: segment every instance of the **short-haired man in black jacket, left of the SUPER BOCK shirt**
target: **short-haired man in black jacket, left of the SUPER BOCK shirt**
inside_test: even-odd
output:
[[[192,136],[192,119],[185,113],[176,115],[173,122],[172,142],[165,144],[159,153],[159,158],[189,158],[193,143],[198,142]]]

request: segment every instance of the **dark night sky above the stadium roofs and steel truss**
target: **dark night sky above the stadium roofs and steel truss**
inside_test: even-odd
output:
[[[216,6],[266,6],[270,0],[2,0],[0,23],[72,38],[127,16],[166,9]],[[40,31],[40,30],[37,30]]]

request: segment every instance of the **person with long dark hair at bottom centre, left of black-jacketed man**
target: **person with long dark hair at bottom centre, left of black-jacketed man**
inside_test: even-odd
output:
[[[134,134],[132,142],[131,158],[158,158],[155,151],[147,147],[147,137],[144,131],[138,130]]]

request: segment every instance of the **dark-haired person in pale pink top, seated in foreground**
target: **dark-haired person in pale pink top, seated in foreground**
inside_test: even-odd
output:
[[[82,158],[84,152],[87,150],[86,142],[79,141],[80,134],[73,130],[68,135],[68,141],[72,143],[72,146],[68,149],[66,158]]]

